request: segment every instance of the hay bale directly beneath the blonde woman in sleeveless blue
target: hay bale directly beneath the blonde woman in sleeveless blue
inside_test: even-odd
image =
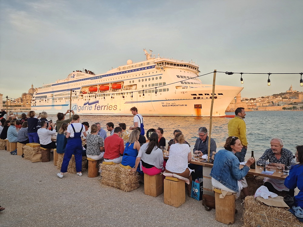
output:
[[[140,186],[140,176],[138,172],[131,172],[130,169],[120,168],[120,189],[125,192],[130,192]]]

